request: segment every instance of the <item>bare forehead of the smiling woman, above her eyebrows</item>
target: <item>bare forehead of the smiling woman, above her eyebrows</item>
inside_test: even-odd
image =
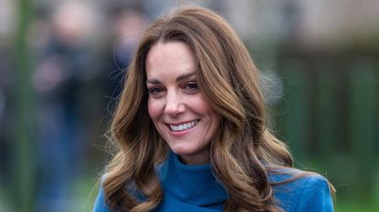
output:
[[[195,71],[195,58],[183,42],[153,45],[146,58],[147,77],[184,74]]]

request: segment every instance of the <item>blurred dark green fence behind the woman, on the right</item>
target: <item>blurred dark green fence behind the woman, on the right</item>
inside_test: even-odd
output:
[[[286,86],[279,137],[297,167],[312,167],[331,180],[341,199],[337,211],[379,211],[378,55],[279,53]]]

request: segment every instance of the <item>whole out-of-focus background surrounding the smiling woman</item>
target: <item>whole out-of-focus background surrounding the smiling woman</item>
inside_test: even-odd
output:
[[[181,4],[224,15],[296,167],[336,211],[379,211],[379,1],[0,0],[0,211],[91,211],[139,36]]]

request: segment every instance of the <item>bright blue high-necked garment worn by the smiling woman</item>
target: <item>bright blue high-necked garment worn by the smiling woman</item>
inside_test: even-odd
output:
[[[163,187],[163,201],[155,212],[215,212],[223,211],[226,189],[216,180],[210,165],[184,165],[170,152],[162,167],[157,169]],[[289,169],[291,175],[271,174],[271,182],[279,182],[299,170]],[[333,211],[332,197],[327,180],[320,175],[308,175],[290,183],[273,187],[279,206],[286,212]],[[94,212],[110,212],[100,188]]]

